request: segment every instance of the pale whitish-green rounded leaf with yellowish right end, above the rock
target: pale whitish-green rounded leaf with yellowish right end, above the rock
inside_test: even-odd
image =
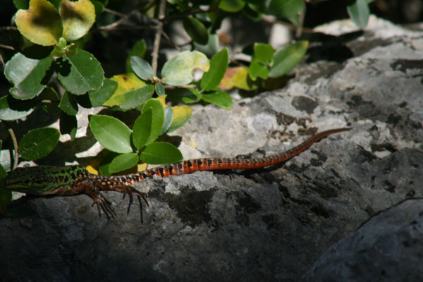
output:
[[[209,71],[210,63],[207,56],[199,51],[183,51],[164,64],[161,77],[168,85],[188,85],[192,82],[192,71],[195,68]]]

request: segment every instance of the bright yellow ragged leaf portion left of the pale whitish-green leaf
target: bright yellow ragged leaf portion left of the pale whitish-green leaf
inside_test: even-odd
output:
[[[103,106],[119,106],[125,101],[125,94],[144,87],[144,81],[135,75],[135,73],[128,73],[123,75],[115,75],[111,80],[118,82],[118,87],[110,99],[104,102]]]

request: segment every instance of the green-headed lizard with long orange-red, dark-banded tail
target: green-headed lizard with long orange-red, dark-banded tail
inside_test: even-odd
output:
[[[147,193],[140,192],[133,188],[133,184],[140,182],[145,178],[152,176],[160,176],[162,178],[168,176],[178,176],[181,174],[193,173],[195,171],[215,171],[223,169],[255,169],[263,168],[279,164],[283,161],[291,159],[315,142],[331,135],[333,133],[341,133],[351,128],[336,128],[317,133],[309,137],[291,149],[279,154],[259,159],[233,159],[233,158],[203,158],[190,159],[180,161],[176,164],[168,164],[156,168],[150,168],[134,174],[125,176],[99,176],[87,171],[86,168],[78,165],[73,166],[30,166],[24,168],[16,168],[9,173],[8,177],[3,181],[1,188],[5,190],[25,192],[27,195],[45,197],[45,196],[72,196],[85,194],[92,198],[92,206],[97,206],[99,216],[102,211],[106,214],[107,219],[114,219],[116,215],[111,207],[111,202],[102,195],[102,191],[117,191],[125,195],[129,195],[130,204],[133,202],[133,193],[141,200],[147,202]],[[140,208],[141,209],[141,208]],[[142,209],[141,209],[142,212]],[[141,214],[142,219],[142,214]]]

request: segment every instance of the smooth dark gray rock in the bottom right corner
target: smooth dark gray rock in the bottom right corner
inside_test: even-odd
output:
[[[423,281],[423,199],[373,216],[327,250],[304,281]]]

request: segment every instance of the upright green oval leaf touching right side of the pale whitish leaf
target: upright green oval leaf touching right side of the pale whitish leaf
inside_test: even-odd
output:
[[[210,69],[204,73],[200,80],[200,87],[204,91],[214,90],[221,82],[228,68],[228,49],[224,48],[216,53],[210,60]]]

